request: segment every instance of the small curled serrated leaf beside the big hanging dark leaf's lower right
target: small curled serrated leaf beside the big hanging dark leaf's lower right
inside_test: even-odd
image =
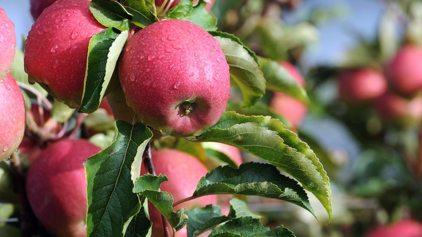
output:
[[[152,174],[142,175],[136,180],[133,192],[144,195],[167,219],[171,226],[176,228],[176,230],[180,230],[186,225],[188,216],[184,207],[178,211],[173,211],[173,196],[168,192],[159,191],[161,183],[167,180],[167,176],[162,176],[162,174],[159,176]]]

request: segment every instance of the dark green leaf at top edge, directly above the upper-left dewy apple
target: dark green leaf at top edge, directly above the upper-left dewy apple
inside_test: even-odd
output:
[[[106,27],[114,27],[120,31],[129,30],[132,15],[117,1],[92,0],[89,6],[94,17]]]

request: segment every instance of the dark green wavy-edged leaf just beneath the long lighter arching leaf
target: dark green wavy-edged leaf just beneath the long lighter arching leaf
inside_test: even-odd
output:
[[[192,196],[213,194],[275,198],[299,205],[314,214],[305,190],[271,164],[249,162],[241,164],[239,169],[217,167],[201,178]]]

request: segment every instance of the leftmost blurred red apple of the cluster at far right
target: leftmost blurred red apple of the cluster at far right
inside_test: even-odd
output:
[[[361,68],[347,70],[338,81],[340,97],[350,103],[375,99],[387,91],[387,79],[376,70]]]

